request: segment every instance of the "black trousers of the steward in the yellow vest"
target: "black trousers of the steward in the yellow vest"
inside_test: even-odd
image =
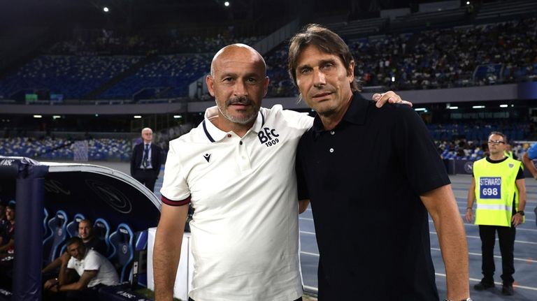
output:
[[[501,279],[503,280],[503,284],[513,285],[513,282],[515,281],[515,279],[513,279],[513,274],[515,274],[515,227],[479,226],[483,281],[494,283],[494,270],[496,270],[496,267],[494,266],[494,243],[496,242],[496,231],[498,231],[500,242]]]

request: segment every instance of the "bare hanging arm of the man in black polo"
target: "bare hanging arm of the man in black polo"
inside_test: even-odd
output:
[[[447,299],[465,300],[470,296],[468,244],[451,185],[444,185],[420,196],[434,220],[445,265]]]

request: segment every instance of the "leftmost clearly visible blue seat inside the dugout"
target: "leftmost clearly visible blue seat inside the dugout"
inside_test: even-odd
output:
[[[67,214],[63,210],[58,210],[56,215],[48,221],[48,228],[51,230],[50,236],[43,240],[43,258],[45,264],[59,256],[61,245],[67,239]]]

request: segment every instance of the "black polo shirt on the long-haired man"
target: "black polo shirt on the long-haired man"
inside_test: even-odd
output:
[[[315,117],[296,170],[313,210],[320,301],[438,300],[420,194],[450,179],[412,108],[355,94],[333,131]]]

